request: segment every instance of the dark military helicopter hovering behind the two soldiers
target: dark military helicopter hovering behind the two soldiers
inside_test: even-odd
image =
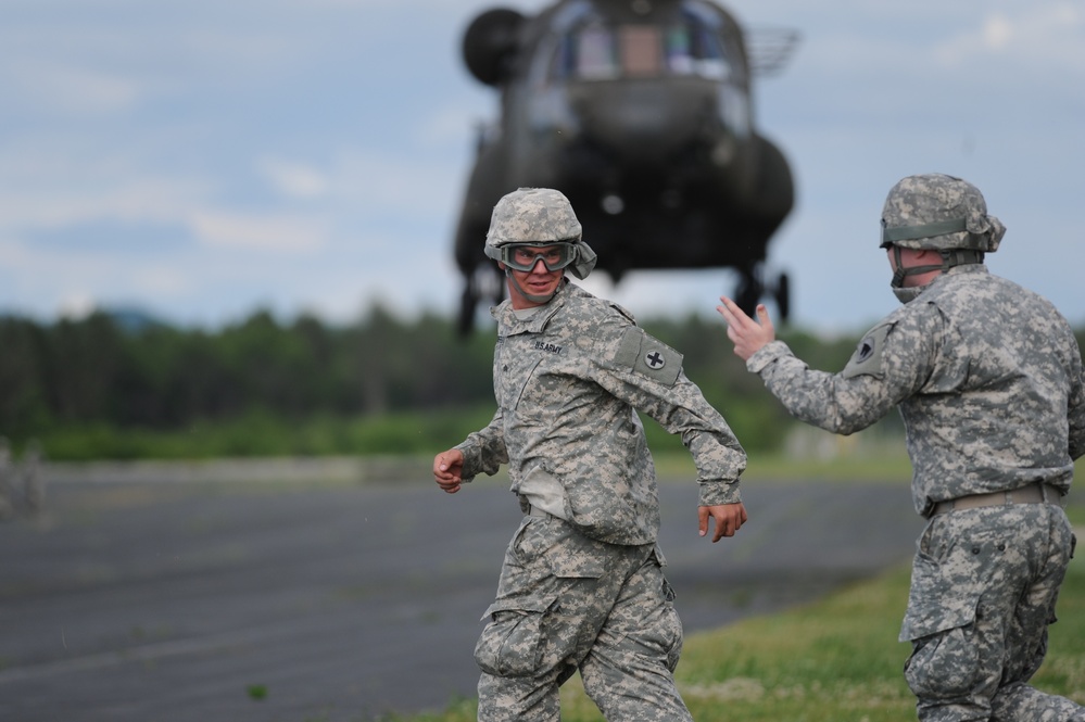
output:
[[[740,306],[770,294],[787,318],[787,276],[767,281],[765,264],[794,183],[754,126],[750,78],[782,67],[798,36],[747,36],[708,0],[560,0],[470,22],[464,62],[500,91],[501,115],[479,128],[456,227],[462,334],[481,300],[504,297],[483,239],[493,206],[520,187],[569,198],[615,283],[634,269],[730,267]]]

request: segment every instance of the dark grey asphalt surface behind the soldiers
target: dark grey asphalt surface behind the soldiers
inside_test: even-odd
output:
[[[49,482],[0,523],[0,720],[358,722],[474,697],[479,618],[519,522],[503,483]],[[907,483],[744,485],[711,544],[695,483],[661,484],[686,633],[906,561]]]

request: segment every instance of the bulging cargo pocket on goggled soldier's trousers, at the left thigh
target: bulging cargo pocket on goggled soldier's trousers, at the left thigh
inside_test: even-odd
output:
[[[539,673],[545,647],[543,622],[553,604],[554,599],[509,599],[491,605],[490,621],[475,645],[479,668],[494,676]]]

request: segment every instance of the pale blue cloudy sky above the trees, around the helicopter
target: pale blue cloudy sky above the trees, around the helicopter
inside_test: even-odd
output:
[[[0,313],[451,313],[472,127],[496,110],[459,42],[490,7],[0,0]],[[1085,322],[1080,2],[728,7],[803,36],[755,88],[797,181],[770,245],[797,324],[855,332],[895,307],[879,214],[926,172],[971,180],[1006,224],[994,273]],[[641,317],[711,314],[732,286],[714,269],[589,279]]]

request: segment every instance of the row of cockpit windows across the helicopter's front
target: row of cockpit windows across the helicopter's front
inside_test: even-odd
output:
[[[551,65],[551,79],[607,80],[665,75],[732,77],[719,29],[696,12],[659,25],[607,25],[597,18],[564,34]]]

